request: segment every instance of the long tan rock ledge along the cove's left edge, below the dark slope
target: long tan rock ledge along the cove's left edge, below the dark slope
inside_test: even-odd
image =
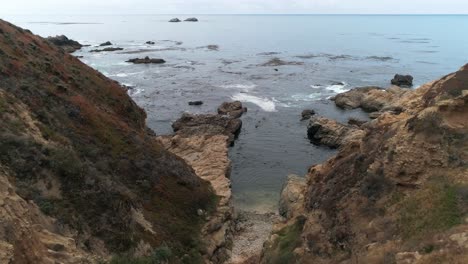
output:
[[[231,104],[237,105],[223,103],[222,106]],[[239,107],[242,109],[242,104]],[[228,147],[241,126],[242,121],[237,117],[185,113],[172,125],[175,135],[159,137],[167,150],[190,164],[200,178],[209,181],[219,197],[215,213],[207,215],[203,228],[207,263],[225,263],[231,256],[234,219]],[[201,211],[200,214],[205,215],[206,212]]]

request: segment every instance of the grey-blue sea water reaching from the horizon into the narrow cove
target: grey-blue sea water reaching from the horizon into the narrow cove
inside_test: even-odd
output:
[[[159,134],[170,133],[184,111],[243,101],[249,112],[230,153],[233,192],[239,208],[261,212],[276,208],[288,174],[304,175],[333,154],[307,141],[303,109],[343,122],[366,118],[328,98],[357,86],[388,86],[395,73],[412,74],[421,85],[468,62],[468,16],[199,15],[198,23],[167,22],[187,15],[0,17],[41,36],[124,48],[90,53],[95,47],[88,47],[76,55],[133,87],[131,96]],[[143,56],[167,63],[125,63]],[[289,65],[264,65],[274,58]],[[190,107],[192,100],[205,104]]]

